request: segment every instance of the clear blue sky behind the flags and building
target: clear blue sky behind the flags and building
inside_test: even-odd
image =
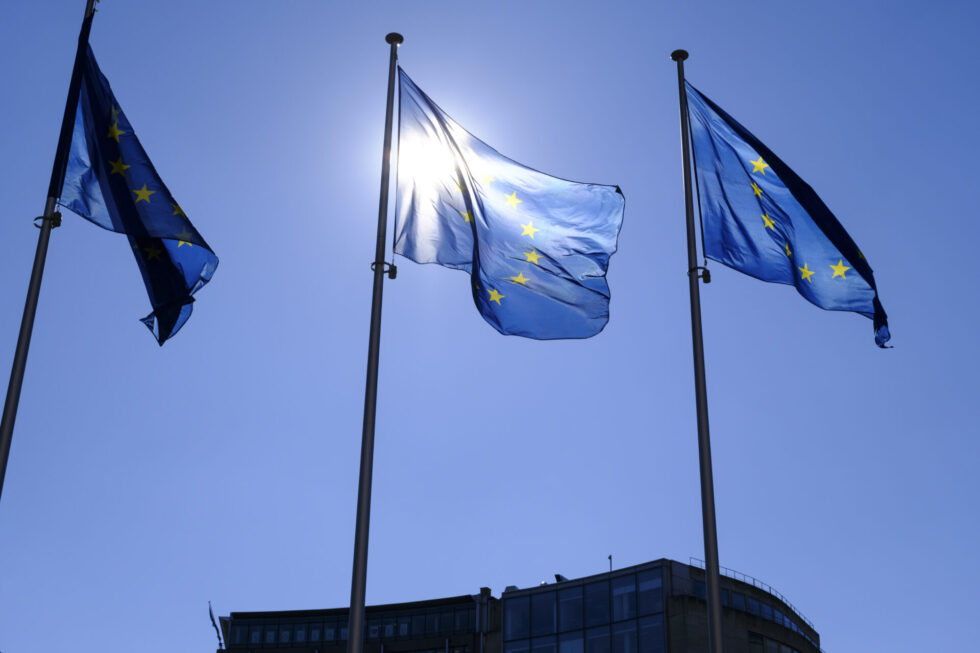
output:
[[[0,21],[5,388],[82,0]],[[702,556],[675,67],[821,195],[870,320],[713,264],[722,564],[832,653],[970,650],[980,540],[975,3],[106,0],[91,43],[221,264],[162,349],[124,237],[52,237],[0,502],[0,650],[215,648],[345,606],[387,45],[468,130],[627,198],[596,338],[498,335],[467,277],[386,282],[368,602]]]

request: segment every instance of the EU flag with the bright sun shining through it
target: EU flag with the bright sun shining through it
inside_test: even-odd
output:
[[[395,251],[471,276],[503,334],[588,338],[609,320],[619,188],[527,168],[460,127],[398,71]]]

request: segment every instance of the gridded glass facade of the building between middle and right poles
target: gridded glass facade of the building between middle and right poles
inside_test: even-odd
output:
[[[503,597],[504,653],[664,653],[660,566]]]

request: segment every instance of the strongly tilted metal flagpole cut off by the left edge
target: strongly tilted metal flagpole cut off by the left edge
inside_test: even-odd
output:
[[[44,261],[48,256],[48,242],[51,240],[51,229],[61,224],[61,214],[56,213],[55,208],[58,196],[61,195],[61,185],[65,180],[68,150],[71,147],[71,135],[75,128],[75,110],[78,107],[78,95],[82,85],[82,61],[85,48],[88,46],[88,35],[92,29],[96,1],[86,0],[85,3],[85,17],[82,20],[82,30],[78,35],[78,49],[75,51],[75,65],[71,71],[71,82],[68,84],[68,99],[61,119],[61,133],[58,136],[58,147],[51,169],[48,198],[44,203],[44,215],[35,220],[35,224],[37,220],[41,221],[39,225],[41,232],[38,234],[34,268],[31,270],[31,280],[27,286],[27,300],[24,303],[24,316],[21,318],[20,333],[17,336],[17,349],[14,350],[10,383],[7,385],[7,399],[3,404],[3,417],[0,418],[0,495],[3,494],[3,479],[7,471],[7,458],[10,456],[10,443],[14,436],[14,420],[17,418],[20,391],[24,384],[27,350],[31,346],[31,334],[34,331],[34,316],[37,313],[37,300],[41,294],[41,277],[44,275]]]

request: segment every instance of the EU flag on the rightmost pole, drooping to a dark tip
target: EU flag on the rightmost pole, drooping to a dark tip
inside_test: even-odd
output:
[[[820,308],[874,321],[891,337],[871,266],[813,189],[759,139],[687,84],[708,258],[785,283]]]

